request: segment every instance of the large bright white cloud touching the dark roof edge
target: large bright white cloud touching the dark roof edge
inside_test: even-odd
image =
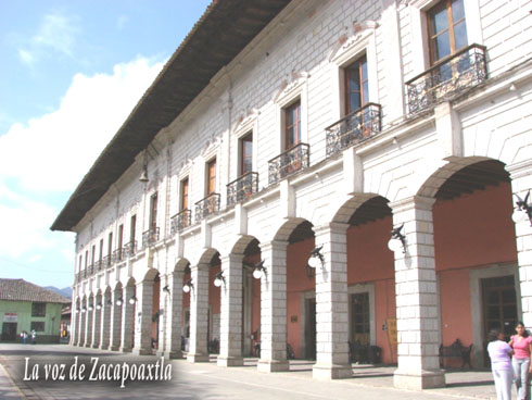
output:
[[[0,137],[0,183],[14,178],[34,192],[72,191],[162,66],[139,58],[115,65],[112,75],[74,76],[59,110]]]

